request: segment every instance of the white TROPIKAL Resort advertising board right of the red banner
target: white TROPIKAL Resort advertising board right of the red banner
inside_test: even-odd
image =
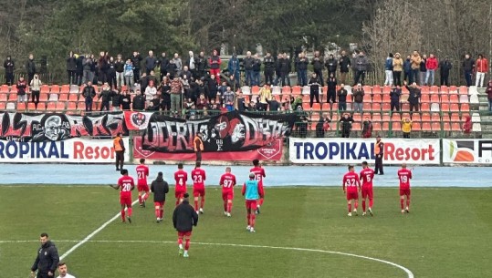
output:
[[[290,138],[294,163],[360,163],[375,160],[375,139]],[[439,164],[439,139],[382,139],[387,163]]]

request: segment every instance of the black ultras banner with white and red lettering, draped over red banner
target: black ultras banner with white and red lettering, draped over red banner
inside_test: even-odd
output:
[[[194,120],[153,114],[141,146],[157,152],[191,153],[195,135],[202,133],[205,153],[260,149],[288,136],[296,118],[295,114],[260,115],[238,111]]]

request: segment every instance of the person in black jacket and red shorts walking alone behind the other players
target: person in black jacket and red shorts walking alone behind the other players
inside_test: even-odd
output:
[[[173,226],[178,231],[178,247],[179,255],[188,257],[188,249],[190,249],[190,237],[192,236],[193,226],[198,224],[198,214],[194,211],[194,207],[190,205],[188,193],[184,193],[183,202],[179,204],[173,212]],[[183,253],[183,238],[184,238],[184,253]]]

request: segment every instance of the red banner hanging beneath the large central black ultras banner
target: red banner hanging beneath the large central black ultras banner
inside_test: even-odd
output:
[[[203,152],[202,160],[225,160],[225,161],[250,161],[250,160],[269,160],[278,161],[282,159],[284,144],[282,139],[276,139],[267,146],[259,149],[245,151],[225,151],[225,152]],[[142,149],[141,137],[133,139],[133,158],[148,160],[195,160],[194,153],[175,153],[158,152]]]

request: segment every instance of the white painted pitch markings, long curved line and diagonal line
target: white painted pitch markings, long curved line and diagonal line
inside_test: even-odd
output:
[[[117,215],[117,216],[119,216],[119,215]],[[100,230],[102,230],[102,229],[100,229]],[[99,232],[100,232],[100,230],[99,230]],[[84,241],[88,242],[90,239],[89,236],[86,239],[84,239]],[[85,243],[84,241],[82,241],[82,242]],[[0,241],[0,243],[22,243],[22,242],[37,242],[37,241]],[[57,242],[78,242],[78,241],[57,241]],[[74,247],[72,247],[72,249],[73,250],[77,249],[77,247],[79,247],[80,245],[83,244],[82,242],[79,242],[78,244],[76,244]],[[155,244],[155,243],[173,243],[173,244],[175,244],[176,243],[176,242],[167,242],[167,241],[163,241],[163,242],[159,242],[159,241],[90,241],[90,242],[95,242],[95,243],[112,243],[112,242],[118,242],[118,243],[152,243],[152,244]],[[350,256],[350,257],[370,260],[370,261],[374,261],[374,262],[378,262],[378,263],[389,264],[391,266],[394,266],[396,268],[403,270],[403,272],[405,272],[407,274],[408,278],[414,277],[413,273],[409,269],[407,269],[406,267],[404,267],[400,264],[392,263],[389,261],[384,261],[384,260],[377,259],[377,258],[352,254],[350,252],[336,252],[336,251],[327,251],[327,250],[320,250],[320,249],[298,248],[298,247],[248,245],[248,244],[236,244],[236,243],[215,243],[215,242],[192,242],[192,243],[197,244],[197,245],[215,245],[215,246],[231,246],[231,247],[245,247],[245,248],[265,248],[265,249],[290,250],[290,251],[302,251],[302,252],[322,252],[322,253],[344,255],[344,256]],[[71,252],[73,252],[72,249],[70,249]],[[63,254],[62,256],[67,256],[70,253],[70,250],[68,252],[66,252],[65,254]],[[62,257],[60,257],[60,261],[61,260],[62,260]]]

